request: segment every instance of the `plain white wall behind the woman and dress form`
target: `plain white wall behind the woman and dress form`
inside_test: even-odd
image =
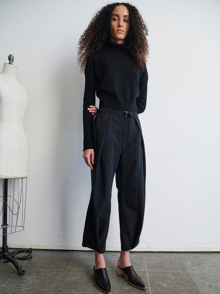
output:
[[[103,0],[1,1],[0,65],[13,54],[30,92],[25,230],[9,246],[84,249],[90,170],[82,158],[84,75],[77,42]],[[138,0],[149,28],[140,115],[147,182],[136,250],[219,250],[219,11],[210,0]],[[119,250],[113,188],[108,250]]]

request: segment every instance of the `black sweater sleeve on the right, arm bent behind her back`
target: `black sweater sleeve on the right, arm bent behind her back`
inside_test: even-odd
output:
[[[142,113],[145,111],[147,102],[147,89],[148,89],[148,71],[141,70],[139,79],[139,96],[136,98],[137,113]]]

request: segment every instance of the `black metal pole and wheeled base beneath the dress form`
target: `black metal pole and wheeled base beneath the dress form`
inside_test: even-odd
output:
[[[7,210],[8,210],[8,179],[4,179],[4,186],[3,186],[3,203],[2,203],[2,248],[0,250],[0,259],[4,259],[3,263],[11,262],[16,270],[18,271],[19,275],[24,275],[25,271],[22,270],[21,265],[18,264],[16,259],[18,260],[27,260],[32,258],[32,248],[29,249],[18,249],[12,252],[9,252],[9,246],[7,245]],[[28,253],[26,256],[17,256],[19,253]]]

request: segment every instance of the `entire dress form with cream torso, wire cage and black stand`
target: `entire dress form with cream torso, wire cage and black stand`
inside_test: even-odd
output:
[[[0,259],[3,259],[4,263],[11,262],[16,267],[19,275],[24,275],[25,271],[22,270],[21,265],[16,260],[32,258],[32,248],[9,252],[7,245],[8,227],[15,227],[15,231],[17,226],[24,228],[23,215],[25,214],[26,192],[25,197],[23,197],[23,178],[26,178],[24,180],[27,184],[28,174],[28,142],[23,130],[23,117],[28,108],[28,90],[16,79],[17,66],[12,65],[13,59],[13,55],[10,54],[9,64],[4,63],[0,74],[0,178],[3,179],[2,248],[0,250]],[[21,181],[18,201],[16,201],[14,194],[11,194],[10,190],[8,194],[8,186],[10,188],[11,180],[15,181],[15,178],[17,181]],[[9,185],[8,179],[10,179]],[[13,184],[13,191],[14,189],[15,185]],[[8,198],[12,198],[9,204]],[[12,208],[10,208],[10,203],[12,203]],[[14,212],[14,206],[17,213]],[[20,208],[22,211],[21,226],[17,224]],[[10,212],[12,212],[11,218]],[[11,224],[10,221],[8,222],[8,213]],[[16,225],[13,225],[13,215],[16,216]],[[11,233],[14,232],[11,231]],[[20,253],[27,253],[28,255],[17,256]]]

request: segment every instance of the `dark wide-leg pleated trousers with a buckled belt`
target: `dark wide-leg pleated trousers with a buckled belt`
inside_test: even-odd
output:
[[[94,171],[82,246],[105,252],[116,173],[121,249],[131,250],[139,243],[145,209],[145,150],[138,113],[100,108],[92,141]]]

